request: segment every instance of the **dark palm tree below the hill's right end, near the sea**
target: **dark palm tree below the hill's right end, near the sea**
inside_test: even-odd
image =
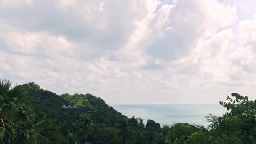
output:
[[[132,130],[131,125],[128,125],[127,121],[121,121],[117,123],[117,128],[120,130],[117,132],[117,136],[123,141],[123,143],[127,142],[127,139],[131,138]]]

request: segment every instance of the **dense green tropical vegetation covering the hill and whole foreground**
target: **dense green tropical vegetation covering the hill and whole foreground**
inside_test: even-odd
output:
[[[65,111],[63,104],[78,111]],[[206,116],[209,126],[163,125],[127,118],[91,94],[56,95],[29,82],[0,81],[1,144],[256,144],[256,100],[232,93],[229,110]]]

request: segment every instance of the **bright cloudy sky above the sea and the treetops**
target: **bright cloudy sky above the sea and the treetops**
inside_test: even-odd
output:
[[[256,1],[0,0],[0,78],[107,104],[256,99]]]

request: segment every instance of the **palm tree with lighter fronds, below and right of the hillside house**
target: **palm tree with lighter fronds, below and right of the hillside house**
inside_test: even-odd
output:
[[[81,138],[81,143],[83,143],[83,137],[85,137],[85,144],[87,142],[87,136],[88,136],[88,132],[93,130],[93,119],[91,118],[91,115],[80,115],[80,128],[81,132],[82,132],[82,138]]]

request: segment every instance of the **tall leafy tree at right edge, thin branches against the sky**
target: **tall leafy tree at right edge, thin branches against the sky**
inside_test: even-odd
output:
[[[256,100],[249,100],[238,93],[232,93],[231,96],[227,96],[228,102],[220,101],[229,112],[223,115],[219,127],[222,131],[236,133],[236,137],[241,136],[243,143],[253,143],[256,141]]]

